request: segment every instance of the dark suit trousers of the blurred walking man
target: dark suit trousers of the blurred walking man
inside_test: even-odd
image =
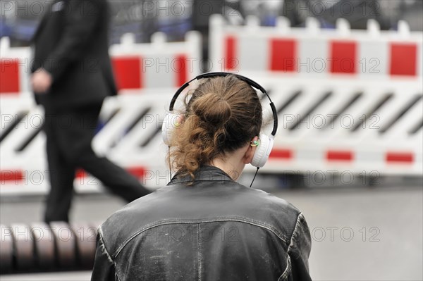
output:
[[[77,168],[97,177],[111,192],[128,202],[149,194],[133,175],[92,150],[91,142],[101,107],[99,103],[66,111],[46,108],[44,132],[51,185],[44,217],[47,223],[68,221]]]

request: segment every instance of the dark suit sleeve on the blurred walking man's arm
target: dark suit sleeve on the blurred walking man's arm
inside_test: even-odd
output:
[[[81,57],[82,51],[95,27],[99,24],[99,18],[106,5],[104,0],[70,0],[64,7],[64,27],[61,39],[54,51],[47,56],[42,68],[47,70],[57,80],[68,68],[68,65]]]

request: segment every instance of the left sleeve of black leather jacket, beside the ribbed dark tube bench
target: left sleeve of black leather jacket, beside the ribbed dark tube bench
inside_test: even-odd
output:
[[[102,238],[101,228],[97,234],[97,250],[92,269],[91,281],[114,281],[115,268]]]

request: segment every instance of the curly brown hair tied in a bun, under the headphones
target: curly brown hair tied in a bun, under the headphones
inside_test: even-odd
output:
[[[235,75],[200,82],[185,101],[185,120],[173,130],[168,155],[178,176],[192,180],[200,166],[244,146],[262,127],[262,105],[247,82]]]

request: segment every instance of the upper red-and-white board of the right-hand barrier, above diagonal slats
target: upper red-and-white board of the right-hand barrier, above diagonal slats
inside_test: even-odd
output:
[[[336,30],[307,25],[290,27],[278,18],[276,27],[261,27],[255,17],[247,25],[230,25],[221,15],[210,20],[210,50],[214,70],[302,77],[347,75],[360,80],[417,79],[423,75],[423,32],[410,32],[405,22],[398,31],[381,31],[375,20],[367,30],[350,30],[339,19]]]

